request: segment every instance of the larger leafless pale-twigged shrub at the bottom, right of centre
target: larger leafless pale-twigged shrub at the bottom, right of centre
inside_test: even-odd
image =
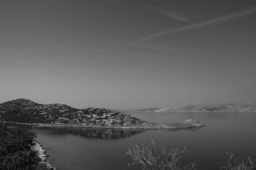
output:
[[[186,166],[180,165],[180,159],[184,153],[188,153],[186,147],[184,149],[173,148],[161,148],[160,155],[156,155],[155,143],[152,139],[150,144],[143,143],[138,145],[138,143],[132,144],[131,147],[126,151],[126,155],[132,158],[131,165],[140,165],[143,169],[160,169],[160,170],[192,170],[195,169],[196,164],[188,164]]]

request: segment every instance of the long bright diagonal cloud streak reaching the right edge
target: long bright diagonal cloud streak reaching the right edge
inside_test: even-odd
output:
[[[148,39],[157,38],[159,36],[164,36],[166,34],[171,34],[171,33],[174,33],[174,32],[185,31],[185,30],[189,30],[189,29],[195,29],[195,28],[198,28],[198,27],[205,27],[207,25],[216,24],[218,22],[222,22],[222,21],[225,21],[225,20],[230,20],[232,18],[243,17],[244,15],[250,15],[250,14],[255,13],[255,12],[256,12],[256,6],[254,6],[253,8],[248,8],[248,9],[243,10],[243,11],[232,13],[230,15],[225,15],[223,17],[214,18],[212,20],[207,20],[207,21],[204,21],[204,22],[196,23],[196,24],[186,25],[184,27],[170,29],[168,31],[157,32],[156,34],[152,34],[150,36],[146,36],[146,37],[143,37],[143,38],[140,38],[140,39],[136,39],[134,41],[131,41],[130,43],[131,44],[140,43],[142,41],[147,41]]]

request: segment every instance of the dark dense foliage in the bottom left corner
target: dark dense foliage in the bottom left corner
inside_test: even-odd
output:
[[[36,169],[40,157],[31,150],[35,137],[28,129],[0,125],[0,169]]]

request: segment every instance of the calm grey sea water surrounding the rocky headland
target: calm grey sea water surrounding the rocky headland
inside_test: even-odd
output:
[[[227,161],[226,152],[235,154],[239,162],[248,153],[256,153],[256,113],[127,113],[155,123],[181,122],[194,118],[205,127],[175,131],[115,130],[85,128],[34,127],[37,140],[47,148],[51,164],[57,169],[140,169],[128,167],[132,162],[125,151],[132,142],[156,142],[161,146],[183,148],[189,153],[182,164],[196,162],[198,169],[220,169]]]

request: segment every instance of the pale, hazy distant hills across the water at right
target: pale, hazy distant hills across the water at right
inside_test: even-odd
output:
[[[163,108],[156,110],[156,112],[256,112],[256,104],[194,104],[179,108]]]

